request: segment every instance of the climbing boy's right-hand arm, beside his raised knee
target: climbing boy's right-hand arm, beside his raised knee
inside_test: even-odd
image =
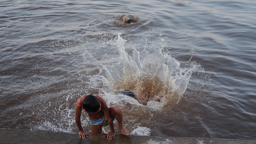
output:
[[[101,103],[101,109],[103,110],[107,121],[109,122],[110,132],[107,133],[107,139],[115,138],[115,130],[113,119],[110,116],[109,108],[107,107],[106,101],[103,99],[102,95],[98,94],[99,102]]]

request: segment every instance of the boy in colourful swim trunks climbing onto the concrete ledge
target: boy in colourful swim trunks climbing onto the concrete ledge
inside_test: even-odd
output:
[[[102,126],[110,126],[110,132],[107,133],[107,139],[115,138],[114,119],[117,119],[119,130],[125,135],[131,135],[123,127],[123,113],[119,105],[107,107],[106,101],[101,94],[84,95],[77,100],[77,108],[75,110],[75,122],[79,129],[80,138],[88,137],[88,132],[83,130],[81,126],[81,111],[87,112],[90,123],[91,132],[94,134],[101,134]]]

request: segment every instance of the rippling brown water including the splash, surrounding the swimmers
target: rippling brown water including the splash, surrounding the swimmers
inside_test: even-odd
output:
[[[77,133],[77,99],[102,93],[136,135],[256,139],[255,1],[0,7],[1,128]],[[116,93],[127,88],[150,105]]]

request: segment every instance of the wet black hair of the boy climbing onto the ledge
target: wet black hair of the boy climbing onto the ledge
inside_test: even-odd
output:
[[[99,100],[94,95],[87,95],[83,99],[83,108],[88,112],[95,112],[99,109]]]

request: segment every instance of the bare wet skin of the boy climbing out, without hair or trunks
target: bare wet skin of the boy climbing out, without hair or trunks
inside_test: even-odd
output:
[[[83,130],[82,126],[81,126],[81,111],[83,109],[82,106],[82,102],[83,99],[87,96],[84,95],[81,98],[79,98],[77,100],[77,108],[75,110],[75,122],[77,124],[77,127],[79,129],[79,136],[80,138],[86,138],[88,137],[88,132]],[[107,133],[107,139],[112,139],[115,138],[115,130],[114,130],[114,124],[113,124],[113,118],[115,116],[117,122],[118,122],[118,127],[119,130],[125,134],[125,135],[131,135],[130,132],[128,132],[124,127],[123,127],[123,113],[122,113],[122,109],[119,105],[114,105],[111,107],[107,107],[107,103],[106,101],[103,99],[101,94],[97,94],[94,95],[100,102],[100,107],[97,111],[95,112],[87,112],[89,119],[91,121],[97,121],[99,119],[101,119],[103,117],[103,115],[105,114],[105,117],[107,119],[107,121],[109,122],[109,126],[110,126],[110,132]],[[99,125],[91,125],[91,131],[94,134],[101,134],[102,133],[102,126]]]

